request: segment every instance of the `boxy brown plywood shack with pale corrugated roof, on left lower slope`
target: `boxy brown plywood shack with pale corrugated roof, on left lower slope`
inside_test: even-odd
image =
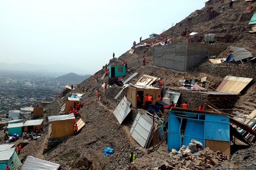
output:
[[[51,123],[49,133],[52,138],[62,138],[74,134],[74,114],[49,116],[48,120]]]

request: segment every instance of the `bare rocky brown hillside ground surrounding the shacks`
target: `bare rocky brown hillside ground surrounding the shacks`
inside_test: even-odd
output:
[[[228,3],[229,0],[224,0],[224,3],[221,3],[220,0],[209,0],[205,8],[196,11],[196,13],[192,13],[190,17],[177,23],[174,27],[163,32],[163,34],[164,36],[171,37],[172,43],[175,43],[186,40],[186,38],[180,36],[184,28],[198,32],[198,38],[196,39],[198,42],[203,41],[204,34],[213,33],[216,36],[223,37],[216,43],[244,47],[252,54],[256,54],[255,48],[252,47],[256,36],[255,34],[249,34],[248,31],[250,29],[247,28],[247,23],[253,13],[244,14],[248,3],[245,3],[244,0],[237,0],[233,5],[233,9],[227,8]],[[226,11],[220,13],[222,6],[226,7]],[[212,7],[213,10],[216,11],[211,18],[209,18],[208,7]],[[241,14],[243,15],[238,26],[233,27]],[[143,42],[146,42],[146,40]],[[138,75],[143,73],[149,74],[155,77],[161,77],[166,86],[177,85],[178,79],[184,76],[193,76],[198,79],[207,76],[207,83],[214,88],[220,84],[226,75],[249,76],[256,79],[256,69],[253,63],[244,63],[244,65],[241,63],[222,63],[214,65],[208,60],[205,60],[201,65],[193,68],[189,72],[178,72],[154,66],[153,53],[154,48],[151,47],[143,46],[135,48],[133,54],[127,51],[119,58],[111,59],[109,65],[121,65],[121,61],[125,60],[128,62],[129,69],[127,77],[135,72],[139,73]],[[146,65],[143,65],[143,56],[146,57]],[[166,150],[166,144],[160,146],[163,150],[157,150],[148,154],[148,150],[141,147],[131,137],[129,129],[134,115],[136,114],[134,109],[126,121],[122,125],[119,125],[116,117],[113,115],[113,110],[116,108],[120,99],[113,99],[113,96],[115,96],[121,88],[112,87],[104,89],[100,85],[97,86],[97,83],[102,80],[101,77],[104,73],[105,71],[103,69],[99,70],[93,76],[82,82],[79,88],[73,90],[73,93],[84,93],[83,100],[85,101],[85,105],[79,112],[81,113],[81,118],[86,122],[86,125],[81,132],[77,136],[68,136],[62,139],[58,145],[46,153],[44,153],[44,148],[47,145],[48,134],[44,133],[40,139],[30,142],[30,144],[23,148],[21,153],[22,159],[25,159],[28,155],[36,156],[59,163],[64,170],[129,169],[130,166],[127,165],[128,156],[131,151],[137,156],[137,160],[134,164],[137,164],[137,169],[140,170],[154,169],[154,167],[159,167],[163,164],[163,160],[170,159],[169,153],[163,151]],[[135,79],[137,79],[137,77],[134,77],[131,82],[134,82]],[[248,113],[253,110],[253,103],[256,102],[255,87],[253,83],[253,85],[250,85],[249,88],[243,91],[243,95],[237,100],[235,108],[233,108],[234,110],[243,111],[244,108],[241,106],[245,104],[249,105],[249,103],[250,108],[247,110]],[[96,91],[99,91],[102,96],[99,102],[96,101]],[[47,132],[48,128],[47,116],[58,115],[60,107],[64,104],[64,100],[65,99],[55,99],[55,101],[47,106],[44,121],[45,132]],[[103,150],[106,146],[113,147],[113,155],[108,157],[104,156]],[[243,154],[242,152],[240,153]],[[234,156],[237,155],[238,154]],[[255,161],[254,157],[252,161]],[[243,161],[237,162],[238,164],[243,163]],[[229,169],[229,167],[227,167],[227,169]],[[232,168],[230,167],[230,169]],[[253,168],[247,167],[247,170],[250,169]]]

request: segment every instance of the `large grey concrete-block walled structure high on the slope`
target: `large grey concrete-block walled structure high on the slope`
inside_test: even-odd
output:
[[[154,47],[154,65],[176,71],[188,71],[200,64],[207,56],[223,51],[225,47],[218,44],[182,42]]]

